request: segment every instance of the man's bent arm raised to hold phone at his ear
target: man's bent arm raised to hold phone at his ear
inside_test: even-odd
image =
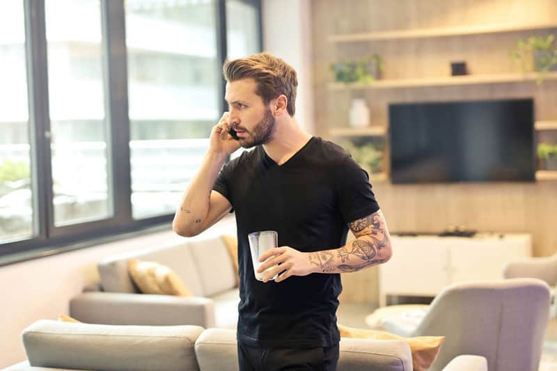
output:
[[[213,127],[210,149],[176,209],[172,229],[178,235],[198,235],[230,212],[230,202],[212,187],[224,161],[238,148],[240,144],[228,134],[228,115],[225,113]]]

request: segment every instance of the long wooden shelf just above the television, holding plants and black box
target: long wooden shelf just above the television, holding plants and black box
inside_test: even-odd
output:
[[[420,86],[458,86],[458,85],[481,85],[481,84],[505,84],[512,82],[535,81],[538,74],[529,72],[526,74],[469,74],[466,76],[427,77],[418,79],[391,79],[377,80],[370,84],[361,83],[330,83],[329,90],[352,90],[352,89],[391,89],[391,88],[416,88]],[[557,72],[549,72],[544,80],[557,80]]]

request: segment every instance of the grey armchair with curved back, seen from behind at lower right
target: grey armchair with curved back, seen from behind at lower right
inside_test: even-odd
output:
[[[450,285],[417,324],[392,317],[383,326],[406,337],[446,336],[431,371],[459,354],[484,356],[490,371],[538,371],[548,312],[547,283],[515,278]]]

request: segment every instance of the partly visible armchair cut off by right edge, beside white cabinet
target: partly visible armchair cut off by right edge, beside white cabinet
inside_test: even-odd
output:
[[[509,262],[503,269],[504,278],[538,278],[549,286],[557,284],[557,254],[544,258],[528,258]]]

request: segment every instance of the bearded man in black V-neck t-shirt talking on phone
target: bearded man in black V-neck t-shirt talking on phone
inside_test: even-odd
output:
[[[336,370],[340,273],[389,260],[386,221],[367,173],[297,124],[290,65],[262,53],[228,61],[223,74],[229,112],[212,129],[173,229],[198,235],[235,210],[240,370]],[[223,166],[240,146],[255,149]],[[349,227],[356,239],[345,245]],[[270,268],[263,282],[247,237],[260,230],[278,231],[281,246],[260,258],[258,271]]]

